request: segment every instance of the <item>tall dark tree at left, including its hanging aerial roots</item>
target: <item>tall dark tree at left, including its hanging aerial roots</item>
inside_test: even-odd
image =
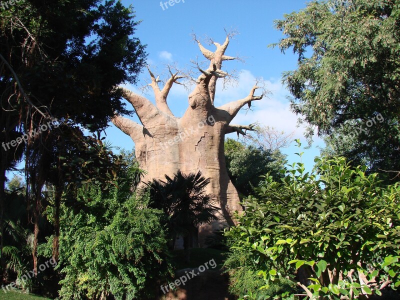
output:
[[[0,234],[5,171],[24,153],[35,267],[44,183],[55,185],[59,200],[66,186],[60,153],[73,162],[70,150],[87,147],[78,125],[101,130],[114,113],[128,113],[115,86],[134,83],[146,55],[133,37],[132,7],[120,1],[26,0],[0,14]],[[50,130],[54,119],[63,125]]]

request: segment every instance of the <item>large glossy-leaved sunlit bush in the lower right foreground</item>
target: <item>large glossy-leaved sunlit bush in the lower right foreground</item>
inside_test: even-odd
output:
[[[344,157],[315,162],[311,172],[298,162],[279,181],[264,177],[226,233],[233,247],[258,263],[263,288],[285,277],[308,298],[353,299],[398,287],[400,185],[383,186]]]

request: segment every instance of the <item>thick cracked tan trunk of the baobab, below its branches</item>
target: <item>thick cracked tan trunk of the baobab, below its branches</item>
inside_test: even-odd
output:
[[[192,118],[187,123],[176,120],[174,126],[160,124],[155,130],[144,133],[145,144],[135,143],[136,158],[148,172],[143,177],[144,182],[152,178],[164,179],[165,174],[172,176],[178,169],[183,173],[200,170],[203,176],[211,178],[207,192],[217,197],[223,217],[233,224],[232,212],[241,210],[241,206],[225,166],[226,124],[214,121],[216,118],[216,111],[211,111],[208,117]]]

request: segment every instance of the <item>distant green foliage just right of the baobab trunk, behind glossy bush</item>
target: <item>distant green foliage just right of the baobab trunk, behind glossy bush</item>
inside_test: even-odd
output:
[[[270,151],[246,146],[234,139],[225,140],[226,168],[237,190],[244,195],[252,193],[258,186],[260,176],[268,171],[275,178],[280,177],[279,169],[284,155],[279,151]]]

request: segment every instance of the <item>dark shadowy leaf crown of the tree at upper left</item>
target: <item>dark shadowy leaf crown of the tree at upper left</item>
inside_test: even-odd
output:
[[[115,0],[26,0],[0,13],[2,55],[33,104],[90,130],[105,127],[115,112],[127,112],[115,86],[136,82],[146,57],[133,37],[139,22],[131,6]],[[8,68],[1,70],[0,87],[6,90],[15,78]],[[2,96],[4,105],[8,96]],[[17,96],[7,105],[25,106]]]

